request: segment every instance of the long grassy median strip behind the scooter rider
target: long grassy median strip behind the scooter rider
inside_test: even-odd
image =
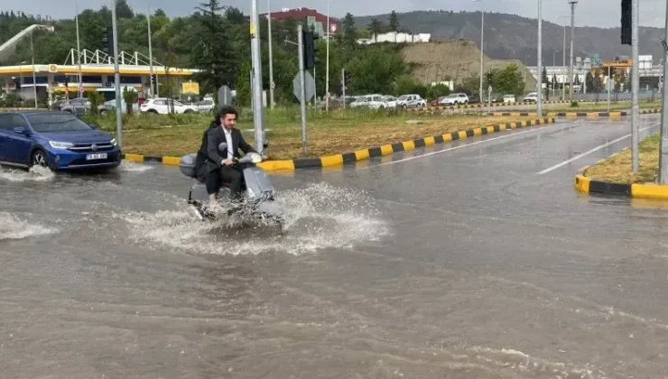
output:
[[[212,116],[193,115],[176,120],[170,116],[131,116],[124,123],[123,151],[144,155],[181,156],[199,149],[202,132]],[[135,120],[137,117],[137,120]],[[162,117],[162,119],[160,118]],[[308,157],[347,153],[385,143],[398,143],[416,138],[470,128],[523,121],[535,117],[493,117],[483,115],[421,116],[386,114],[380,112],[332,111],[328,114],[310,112],[307,124]],[[109,120],[113,121],[110,117]],[[299,109],[266,110],[264,125],[270,131],[269,158],[272,160],[304,158],[302,154],[302,126]],[[420,120],[421,124],[406,124]],[[103,129],[115,130],[108,120],[97,122]],[[182,125],[175,125],[182,122]],[[162,127],[170,125],[171,127]],[[246,141],[252,143],[253,120],[244,112],[237,127]],[[247,131],[247,132],[246,132]]]

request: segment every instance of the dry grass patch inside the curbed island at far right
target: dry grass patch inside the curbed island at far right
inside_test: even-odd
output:
[[[639,170],[636,173],[631,170],[631,149],[626,148],[589,167],[584,174],[590,179],[615,183],[654,182],[659,172],[659,134],[650,135],[642,140],[638,153],[640,161]]]

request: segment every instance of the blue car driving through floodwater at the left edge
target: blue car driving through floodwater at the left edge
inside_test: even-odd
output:
[[[0,164],[52,170],[115,168],[116,139],[69,112],[0,113]]]

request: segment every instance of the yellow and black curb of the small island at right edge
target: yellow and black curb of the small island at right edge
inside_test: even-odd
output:
[[[612,156],[615,155],[617,154]],[[637,199],[668,199],[668,186],[655,183],[614,183],[590,179],[584,174],[587,169],[589,169],[589,166],[583,167],[575,176],[574,186],[580,192]]]

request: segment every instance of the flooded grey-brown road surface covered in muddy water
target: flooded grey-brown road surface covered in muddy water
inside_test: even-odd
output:
[[[657,116],[641,120],[641,135],[657,130]],[[665,377],[666,205],[572,184],[629,133],[626,121],[562,120],[273,174],[283,235],[194,220],[175,167],[3,171],[0,367],[8,378]]]

